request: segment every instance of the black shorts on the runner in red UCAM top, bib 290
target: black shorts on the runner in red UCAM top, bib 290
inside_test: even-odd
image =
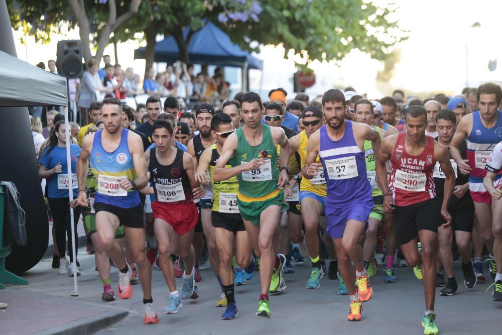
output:
[[[438,198],[428,199],[408,206],[396,206],[393,213],[394,226],[396,227],[400,245],[404,245],[416,238],[421,230],[437,233],[438,227],[444,222]]]

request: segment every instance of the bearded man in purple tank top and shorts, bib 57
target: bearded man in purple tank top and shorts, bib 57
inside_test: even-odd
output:
[[[359,238],[373,209],[371,185],[366,176],[364,141],[371,141],[373,152],[380,150],[380,134],[368,125],[345,121],[345,96],[339,89],[327,90],[322,97],[326,126],[307,144],[303,175],[312,177],[321,168],[326,178],[326,233],[333,239],[340,272],[350,295],[350,321],[361,320],[362,304],[373,290],[362,261]],[[317,155],[322,167],[316,163]],[[380,170],[380,167],[376,168]],[[355,266],[355,283],[352,263]],[[356,287],[357,285],[357,287]]]

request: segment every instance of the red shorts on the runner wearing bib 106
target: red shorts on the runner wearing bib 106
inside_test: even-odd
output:
[[[154,219],[166,221],[178,235],[190,232],[197,225],[199,212],[195,203],[171,204],[160,201],[152,202]]]

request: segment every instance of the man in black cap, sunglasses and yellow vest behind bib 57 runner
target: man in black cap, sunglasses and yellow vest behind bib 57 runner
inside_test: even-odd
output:
[[[307,157],[308,139],[324,126],[324,114],[321,109],[309,106],[302,111],[300,119],[305,130],[290,139],[290,146],[291,152],[296,152],[300,155],[300,164],[303,168],[305,166],[305,158]],[[320,163],[319,157],[317,157],[316,163]],[[326,204],[326,180],[324,179],[323,171],[319,171],[312,179],[301,179],[299,201],[303,224],[305,226],[305,238],[302,243],[306,242],[312,262],[312,271],[307,281],[307,288],[317,289],[320,287],[320,280],[324,277],[320,262],[318,237],[319,216],[324,215]],[[303,255],[304,253],[306,254],[305,250],[303,250],[302,256],[308,257],[308,255]],[[338,292],[340,293],[340,290]],[[343,292],[344,289],[342,289]]]

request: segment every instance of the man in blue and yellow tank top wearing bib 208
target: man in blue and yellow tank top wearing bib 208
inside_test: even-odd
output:
[[[115,231],[122,225],[140,273],[145,323],[157,323],[159,319],[152,299],[152,268],[145,250],[145,213],[137,191],[148,182],[143,142],[138,135],[121,127],[123,111],[118,99],[104,99],[101,111],[105,128],[86,136],[82,142],[77,165],[77,203],[82,207],[89,205],[85,180],[90,159],[92,173],[98,182],[94,198],[96,231],[106,254],[120,270],[118,296],[122,299],[133,296],[131,267],[115,241]]]

